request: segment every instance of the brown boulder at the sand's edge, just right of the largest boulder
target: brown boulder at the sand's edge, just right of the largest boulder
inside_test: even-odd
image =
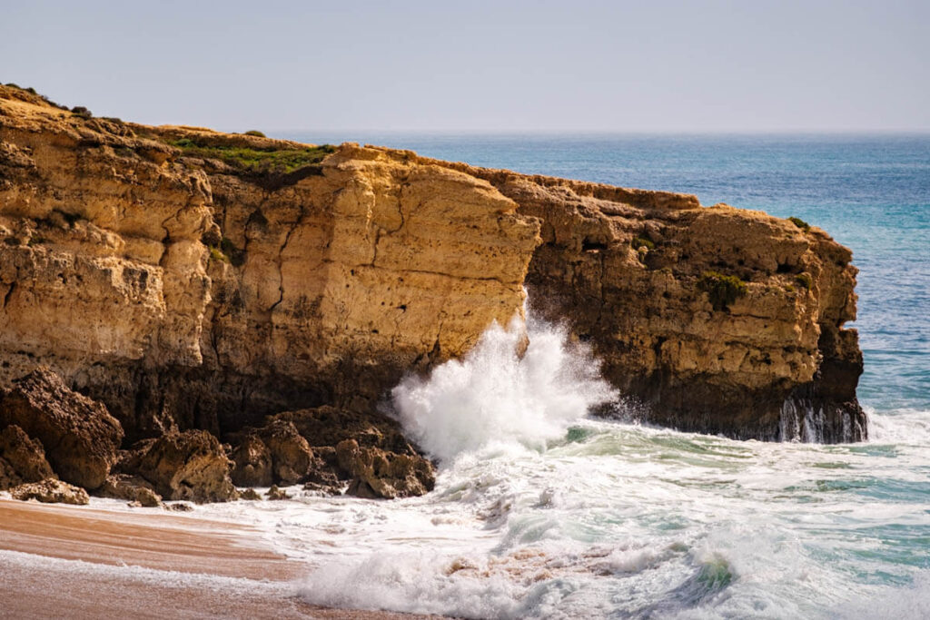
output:
[[[232,465],[216,437],[206,430],[185,430],[140,442],[118,468],[151,482],[155,492],[168,500],[199,504],[237,497],[230,480]]]

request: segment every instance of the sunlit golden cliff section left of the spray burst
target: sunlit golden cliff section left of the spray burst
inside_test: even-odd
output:
[[[166,141],[277,142],[86,119],[4,88],[0,379],[41,361],[130,440],[370,408],[522,311],[538,222],[484,180],[353,146],[249,175]]]

